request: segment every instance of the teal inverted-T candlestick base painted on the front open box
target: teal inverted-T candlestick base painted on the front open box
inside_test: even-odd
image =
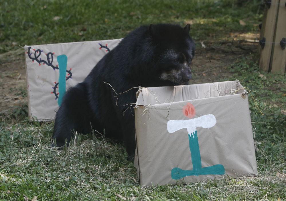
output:
[[[198,135],[197,131],[192,133],[189,136],[189,143],[190,143],[190,151],[193,163],[193,170],[182,170],[181,168],[173,168],[171,170],[171,178],[172,179],[181,179],[185,176],[199,176],[199,175],[208,175],[208,174],[224,174],[225,169],[223,165],[213,165],[210,167],[202,168],[202,161],[200,155],[200,147],[198,142]]]

